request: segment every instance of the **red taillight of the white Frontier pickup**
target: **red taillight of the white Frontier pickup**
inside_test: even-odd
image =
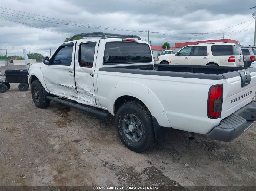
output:
[[[221,116],[223,85],[213,86],[208,97],[208,117],[218,118]]]

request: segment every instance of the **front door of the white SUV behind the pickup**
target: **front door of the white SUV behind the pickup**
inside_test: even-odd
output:
[[[179,51],[179,55],[176,53],[173,57],[173,64],[189,65],[192,48],[193,46],[186,46]]]

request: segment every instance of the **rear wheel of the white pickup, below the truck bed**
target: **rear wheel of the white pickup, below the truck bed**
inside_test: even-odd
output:
[[[121,142],[130,150],[141,153],[154,144],[152,116],[140,101],[124,103],[117,111],[115,123]]]

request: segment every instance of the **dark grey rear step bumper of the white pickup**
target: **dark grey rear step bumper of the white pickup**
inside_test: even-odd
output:
[[[251,102],[221,120],[206,136],[219,141],[232,141],[246,132],[256,119],[256,102]]]

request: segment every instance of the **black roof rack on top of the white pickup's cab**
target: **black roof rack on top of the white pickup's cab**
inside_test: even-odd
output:
[[[69,41],[74,40],[75,37],[101,37],[101,38],[137,38],[141,40],[141,38],[137,35],[123,35],[123,34],[111,34],[111,33],[103,33],[103,32],[93,32],[93,33],[81,33],[75,34],[73,37],[69,39]]]

